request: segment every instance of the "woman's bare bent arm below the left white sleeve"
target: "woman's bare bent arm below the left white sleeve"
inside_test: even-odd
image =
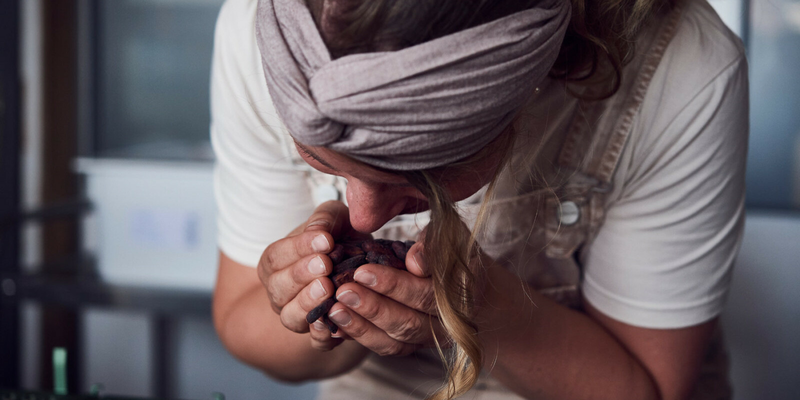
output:
[[[222,254],[221,263],[227,262],[230,259]],[[368,350],[352,341],[326,352],[314,349],[309,334],[298,334],[282,325],[253,269],[227,268],[240,272],[229,270],[218,279],[214,326],[222,343],[242,362],[273,378],[301,382],[343,374],[366,356]]]

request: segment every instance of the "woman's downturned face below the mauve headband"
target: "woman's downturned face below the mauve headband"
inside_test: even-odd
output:
[[[310,166],[347,179],[350,225],[359,232],[372,233],[399,214],[428,210],[425,196],[399,174],[378,170],[326,147],[297,142],[295,146]],[[474,162],[442,172],[442,185],[454,202],[474,194],[494,176],[502,154],[490,146],[486,150]]]

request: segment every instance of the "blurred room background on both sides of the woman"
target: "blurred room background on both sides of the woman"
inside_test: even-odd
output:
[[[800,398],[800,1],[711,0],[750,59],[734,398]],[[209,76],[222,0],[0,2],[0,388],[313,398],[210,322]],[[98,386],[94,386],[97,388]]]

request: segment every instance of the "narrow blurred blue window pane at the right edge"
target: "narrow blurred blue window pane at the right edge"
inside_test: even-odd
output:
[[[747,203],[800,208],[800,2],[753,0]]]

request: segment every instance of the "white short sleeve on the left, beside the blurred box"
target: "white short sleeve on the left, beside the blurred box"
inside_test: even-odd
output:
[[[255,0],[228,0],[214,34],[211,144],[218,246],[246,266],[314,210],[306,172],[266,88],[255,42]]]

